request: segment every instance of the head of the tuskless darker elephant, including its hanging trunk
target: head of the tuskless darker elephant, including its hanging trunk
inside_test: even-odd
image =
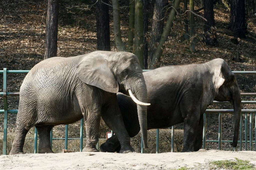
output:
[[[241,116],[241,96],[240,89],[236,82],[236,76],[229,68],[228,64],[218,58],[212,60],[214,65],[214,76],[213,84],[215,87],[215,100],[216,101],[229,101],[233,103],[234,107],[234,137],[233,137],[233,147],[237,146],[237,140],[239,136],[239,124]]]

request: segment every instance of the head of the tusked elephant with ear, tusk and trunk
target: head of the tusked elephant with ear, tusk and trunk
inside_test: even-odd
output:
[[[78,77],[107,92],[123,92],[137,103],[144,148],[147,148],[147,87],[136,55],[128,52],[94,51],[77,67]],[[137,99],[135,98],[135,96]]]

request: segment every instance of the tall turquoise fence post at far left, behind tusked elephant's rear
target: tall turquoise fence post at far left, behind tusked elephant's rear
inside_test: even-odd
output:
[[[7,146],[7,95],[6,95],[6,89],[7,89],[7,69],[4,68],[3,70],[3,99],[4,99],[4,137],[3,137],[3,154],[6,155],[6,146]]]

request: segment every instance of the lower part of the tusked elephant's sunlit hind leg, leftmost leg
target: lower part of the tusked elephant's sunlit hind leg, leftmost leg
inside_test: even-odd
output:
[[[12,149],[10,151],[10,155],[13,154],[23,154],[23,145],[25,142],[25,138],[28,130],[22,126],[17,125],[16,135],[14,141],[12,142]]]

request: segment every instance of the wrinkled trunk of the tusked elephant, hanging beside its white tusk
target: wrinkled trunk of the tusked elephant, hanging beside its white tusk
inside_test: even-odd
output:
[[[136,95],[137,99],[140,102],[147,102],[147,86],[145,84],[144,79],[140,79],[136,83],[136,88],[132,90],[134,94]],[[148,148],[147,143],[147,130],[148,130],[148,123],[147,123],[147,106],[139,105],[137,104],[137,111],[138,111],[138,118],[140,123],[140,130],[141,130],[141,136],[143,139],[143,145],[144,148]]]

